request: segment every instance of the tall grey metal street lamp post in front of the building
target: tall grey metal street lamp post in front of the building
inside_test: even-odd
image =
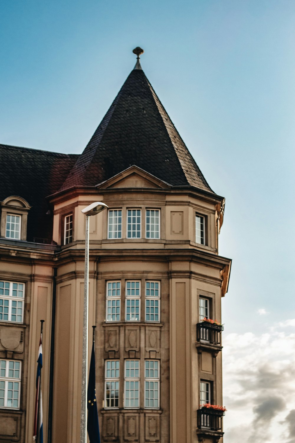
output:
[[[85,272],[84,272],[84,306],[83,306],[83,345],[82,345],[82,389],[81,389],[81,433],[80,443],[87,442],[87,373],[88,373],[88,266],[89,266],[89,217],[103,211],[108,206],[95,202],[82,209],[86,215],[85,229]]]

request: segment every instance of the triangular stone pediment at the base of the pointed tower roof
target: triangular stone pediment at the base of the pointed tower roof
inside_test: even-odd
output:
[[[130,166],[119,174],[114,175],[111,179],[99,183],[97,188],[170,188],[169,183],[158,179],[149,172],[144,171],[138,166]]]

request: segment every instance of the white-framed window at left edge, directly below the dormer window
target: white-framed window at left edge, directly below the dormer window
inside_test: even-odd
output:
[[[0,280],[0,321],[23,323],[25,285]]]

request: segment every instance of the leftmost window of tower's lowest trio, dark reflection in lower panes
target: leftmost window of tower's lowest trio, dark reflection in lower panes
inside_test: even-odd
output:
[[[105,408],[119,408],[119,374],[120,361],[107,360],[105,363]]]

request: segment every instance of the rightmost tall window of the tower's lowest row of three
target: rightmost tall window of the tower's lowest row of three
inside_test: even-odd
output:
[[[145,408],[160,407],[160,362],[145,361]]]

